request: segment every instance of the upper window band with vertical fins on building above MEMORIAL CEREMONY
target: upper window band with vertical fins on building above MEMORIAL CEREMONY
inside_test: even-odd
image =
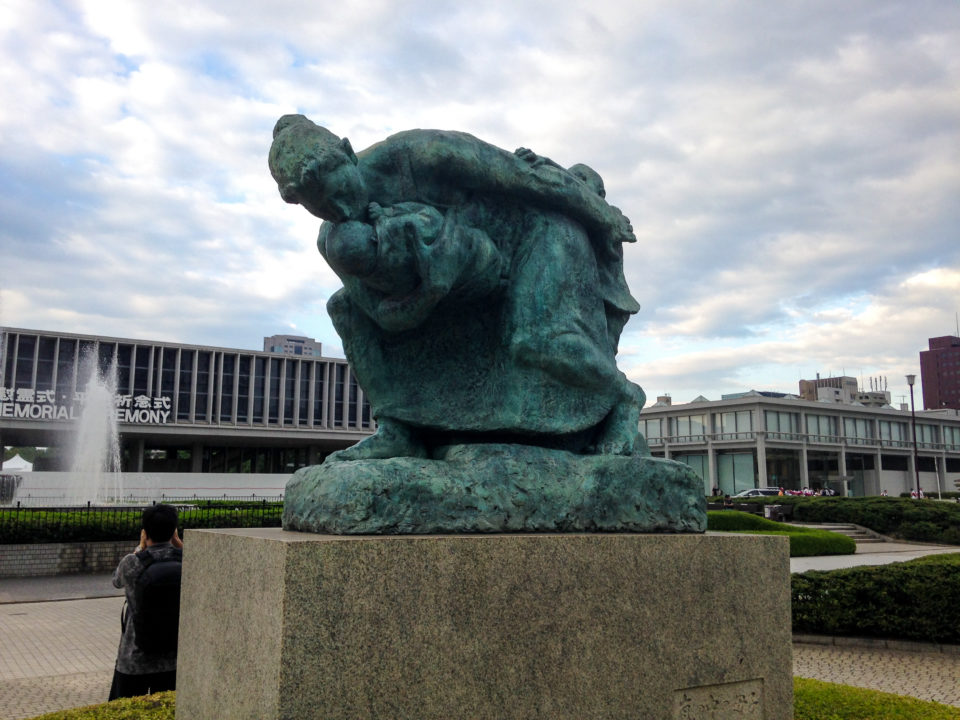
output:
[[[345,361],[270,357],[8,333],[4,385],[56,393],[70,405],[96,368],[117,393],[169,397],[180,422],[371,427],[370,405]]]

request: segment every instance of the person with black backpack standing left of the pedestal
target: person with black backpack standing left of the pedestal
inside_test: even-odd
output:
[[[176,689],[183,561],[178,519],[172,505],[144,510],[140,544],[113,573],[113,585],[125,589],[127,601],[110,700]]]

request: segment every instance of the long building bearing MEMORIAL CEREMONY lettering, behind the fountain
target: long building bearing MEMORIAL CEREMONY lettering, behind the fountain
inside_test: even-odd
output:
[[[91,365],[115,377],[132,475],[288,477],[375,427],[343,359],[0,327],[0,447],[55,448],[34,470],[69,470]]]

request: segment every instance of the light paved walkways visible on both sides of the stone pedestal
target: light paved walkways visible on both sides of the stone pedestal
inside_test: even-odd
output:
[[[882,564],[957,548],[887,543],[841,556]],[[900,547],[895,547],[900,546]],[[859,551],[859,548],[858,548]],[[836,558],[796,558],[823,567]],[[123,598],[110,575],[0,580],[0,718],[21,720],[104,702]],[[794,644],[794,674],[960,707],[960,654]]]

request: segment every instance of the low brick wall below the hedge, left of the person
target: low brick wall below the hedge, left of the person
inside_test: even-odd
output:
[[[0,545],[0,578],[113,572],[135,540]]]

